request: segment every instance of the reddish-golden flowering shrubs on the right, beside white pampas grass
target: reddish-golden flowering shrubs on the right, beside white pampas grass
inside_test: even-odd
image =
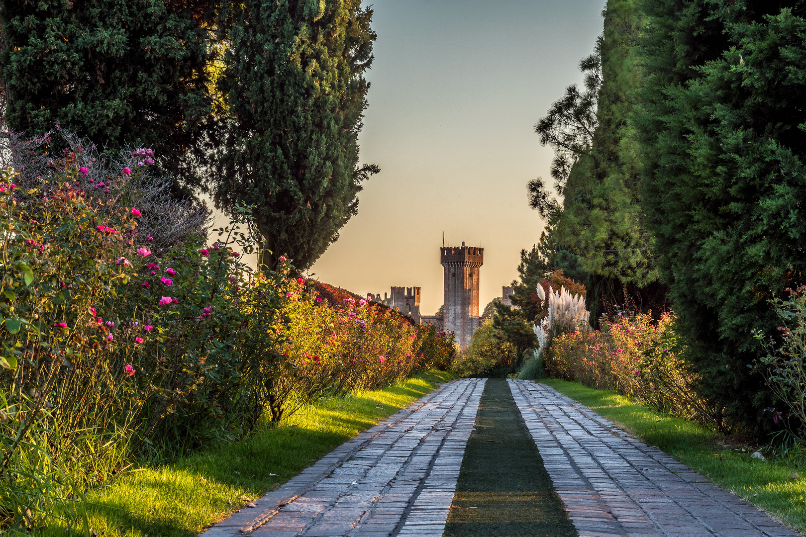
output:
[[[555,337],[544,353],[546,372],[616,390],[658,411],[713,424],[714,406],[697,394],[700,378],[679,356],[674,321],[671,313],[664,313],[657,324],[648,314],[618,312],[612,320],[603,317],[601,330]]]

